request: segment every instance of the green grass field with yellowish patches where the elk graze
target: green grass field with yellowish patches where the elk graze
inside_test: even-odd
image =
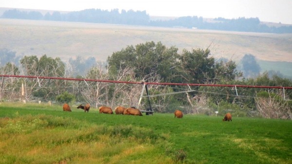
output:
[[[291,164],[292,121],[0,104],[0,164]]]

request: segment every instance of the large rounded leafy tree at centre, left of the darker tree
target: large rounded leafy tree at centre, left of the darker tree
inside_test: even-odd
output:
[[[135,78],[147,79],[159,75],[163,81],[171,81],[177,76],[178,49],[166,48],[161,42],[153,41],[128,46],[108,57],[109,70],[116,74],[128,67],[134,69]]]

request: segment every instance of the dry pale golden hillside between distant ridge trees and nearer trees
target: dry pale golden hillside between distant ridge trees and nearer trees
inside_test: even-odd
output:
[[[95,57],[105,61],[128,45],[161,41],[167,47],[211,49],[214,57],[235,61],[245,54],[258,60],[292,62],[292,34],[225,32],[81,22],[0,19],[0,49],[17,55]]]

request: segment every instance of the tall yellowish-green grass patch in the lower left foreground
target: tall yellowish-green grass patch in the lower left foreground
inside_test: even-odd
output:
[[[40,114],[1,118],[0,128],[1,164],[173,163],[151,144],[153,137],[161,140],[158,135],[130,125]]]

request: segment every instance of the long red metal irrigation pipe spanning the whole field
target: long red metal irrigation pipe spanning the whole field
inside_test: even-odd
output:
[[[248,85],[228,85],[228,84],[191,84],[191,83],[152,83],[152,82],[133,82],[133,81],[114,81],[114,80],[97,80],[81,78],[64,78],[64,77],[47,77],[47,76],[25,76],[0,74],[0,77],[22,77],[22,78],[40,78],[40,79],[57,79],[57,80],[75,80],[75,81],[96,81],[105,83],[126,83],[126,84],[150,84],[150,85],[178,85],[178,86],[210,86],[210,87],[242,87],[242,88],[274,88],[274,89],[292,89],[292,87],[279,86],[248,86]]]

